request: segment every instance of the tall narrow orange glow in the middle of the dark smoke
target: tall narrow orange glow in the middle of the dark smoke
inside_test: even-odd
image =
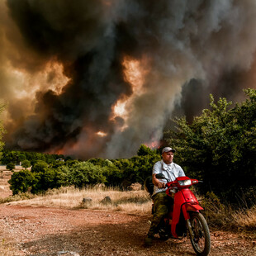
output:
[[[131,59],[125,57],[122,65],[124,67],[124,79],[127,83],[130,83],[131,95],[122,95],[116,101],[116,104],[112,106],[111,120],[114,120],[116,116],[120,116],[126,122],[128,118],[127,108],[132,104],[135,97],[143,94],[143,85],[145,83],[145,76],[149,73],[149,61],[148,59]],[[126,124],[122,126],[121,130],[126,128]]]

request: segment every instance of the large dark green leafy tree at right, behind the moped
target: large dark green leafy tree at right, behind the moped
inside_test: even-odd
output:
[[[202,178],[202,192],[235,202],[247,187],[256,182],[256,91],[244,90],[246,102],[230,107],[225,98],[187,124],[176,119],[178,130],[170,130],[168,142],[182,157],[187,175]]]

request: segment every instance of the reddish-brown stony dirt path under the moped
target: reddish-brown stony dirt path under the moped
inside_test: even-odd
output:
[[[188,239],[143,245],[149,216],[121,212],[0,206],[0,238],[14,255],[195,255]],[[255,255],[255,242],[211,232],[211,254]]]

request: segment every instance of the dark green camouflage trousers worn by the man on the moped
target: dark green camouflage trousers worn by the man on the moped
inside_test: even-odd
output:
[[[170,206],[173,205],[173,198],[168,197],[164,192],[159,192],[152,197],[154,201],[154,216],[151,220],[148,236],[153,236],[159,232],[159,223],[167,215]]]

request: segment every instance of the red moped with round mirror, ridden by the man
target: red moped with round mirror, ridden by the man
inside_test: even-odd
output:
[[[156,178],[166,179],[161,173]],[[173,197],[174,204],[159,225],[159,236],[161,239],[183,239],[188,233],[196,254],[206,256],[211,249],[209,228],[200,213],[203,208],[188,188],[197,183],[197,179],[188,177],[178,177],[175,181],[166,183],[166,193]]]

